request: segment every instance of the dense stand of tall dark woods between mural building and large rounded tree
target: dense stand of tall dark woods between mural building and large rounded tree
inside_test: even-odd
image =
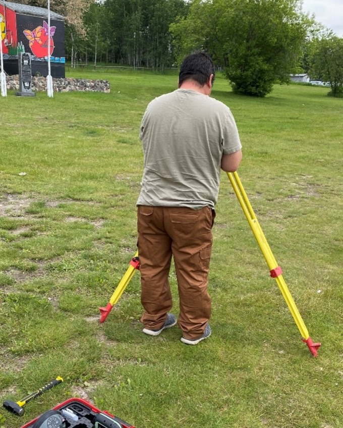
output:
[[[169,26],[187,16],[184,0],[106,0],[83,15],[85,33],[67,24],[66,51],[74,60],[164,70],[175,55]]]

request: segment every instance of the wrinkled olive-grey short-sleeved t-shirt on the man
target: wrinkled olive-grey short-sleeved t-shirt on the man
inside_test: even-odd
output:
[[[137,205],[213,208],[221,157],[242,148],[230,109],[189,89],[152,100],[140,138],[144,172]]]

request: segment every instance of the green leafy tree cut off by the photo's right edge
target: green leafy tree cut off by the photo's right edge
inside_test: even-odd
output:
[[[311,71],[317,78],[330,82],[329,95],[343,97],[343,38],[331,35],[317,40]]]

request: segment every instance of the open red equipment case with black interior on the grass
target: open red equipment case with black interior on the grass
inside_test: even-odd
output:
[[[101,411],[81,398],[71,398],[52,408],[57,410],[56,414],[61,414],[64,428],[135,428],[128,422],[113,416],[107,411]],[[44,412],[35,419],[23,425],[21,428],[32,428],[35,422],[46,413]],[[46,425],[46,423],[45,423]],[[45,426],[42,424],[42,426]],[[49,426],[49,424],[47,424]]]

